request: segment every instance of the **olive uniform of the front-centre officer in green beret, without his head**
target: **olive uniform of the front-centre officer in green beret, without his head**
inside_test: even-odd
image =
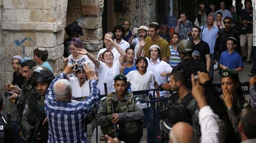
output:
[[[101,126],[103,134],[109,134],[113,137],[112,131],[112,109],[111,100],[114,101],[116,109],[114,113],[119,116],[118,138],[125,142],[133,142],[138,136],[139,140],[143,134],[142,121],[144,118],[143,110],[138,99],[134,99],[132,94],[125,94],[124,100],[120,101],[116,94],[112,93],[102,98],[96,121]],[[132,139],[134,139],[132,141]],[[139,141],[137,140],[137,142]]]

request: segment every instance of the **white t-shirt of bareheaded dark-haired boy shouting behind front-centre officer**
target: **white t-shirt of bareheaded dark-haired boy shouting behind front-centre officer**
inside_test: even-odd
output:
[[[150,83],[156,82],[156,79],[154,78],[154,74],[151,71],[146,71],[144,75],[141,75],[138,70],[132,70],[126,75],[126,77],[127,77],[127,82],[131,83],[132,91],[149,90]],[[143,103],[142,108],[146,109],[147,104]]]

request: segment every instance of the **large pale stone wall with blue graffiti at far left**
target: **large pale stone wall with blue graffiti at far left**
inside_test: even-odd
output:
[[[63,62],[64,26],[68,0],[2,0],[0,34],[0,71],[3,84],[12,78],[11,58],[14,55],[28,55],[33,49],[44,47],[55,73]]]

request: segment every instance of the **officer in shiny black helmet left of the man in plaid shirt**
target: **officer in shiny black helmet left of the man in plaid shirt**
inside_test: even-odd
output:
[[[43,123],[46,120],[44,114],[44,98],[46,90],[53,78],[53,73],[45,67],[36,66],[36,69],[33,70],[31,82],[32,84],[36,84],[38,94],[28,97],[28,103],[26,103],[21,120],[21,126],[26,133],[28,141],[31,141],[35,132],[39,131],[40,136],[38,135],[37,138],[40,138],[40,142],[47,142],[48,124]],[[42,127],[41,125],[37,125],[39,124],[38,121],[41,121],[43,124]],[[35,131],[38,127],[39,130]]]

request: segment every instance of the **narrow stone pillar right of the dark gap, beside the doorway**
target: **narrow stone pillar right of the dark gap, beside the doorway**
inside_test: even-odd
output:
[[[68,2],[67,23],[77,20],[83,28],[83,35],[79,36],[85,48],[96,55],[103,48],[102,13],[103,0],[71,0]]]

